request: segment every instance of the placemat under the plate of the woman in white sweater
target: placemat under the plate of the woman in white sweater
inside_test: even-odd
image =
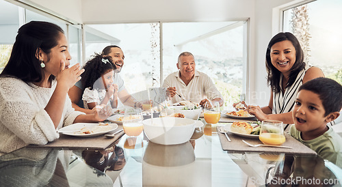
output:
[[[118,126],[118,128],[114,131],[121,130],[122,127]],[[46,145],[28,145],[27,147],[62,147],[62,148],[70,148],[70,149],[78,149],[78,148],[89,148],[89,149],[106,149],[114,145],[114,143],[120,139],[120,137],[124,135],[124,131],[119,132],[112,139],[108,139],[105,135],[81,138],[77,136],[68,136],[65,134],[60,134],[60,138],[55,141],[49,142]]]

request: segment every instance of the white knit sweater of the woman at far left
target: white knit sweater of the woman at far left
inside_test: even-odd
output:
[[[12,152],[28,144],[44,145],[58,139],[53,121],[44,110],[57,81],[51,88],[38,87],[18,78],[0,78],[0,152]],[[57,128],[73,124],[83,113],[77,112],[66,97],[64,111]]]

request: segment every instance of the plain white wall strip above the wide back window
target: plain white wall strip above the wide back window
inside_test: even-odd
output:
[[[83,23],[222,21],[249,18],[254,0],[83,0]]]

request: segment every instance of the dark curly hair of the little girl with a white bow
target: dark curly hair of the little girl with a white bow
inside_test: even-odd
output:
[[[109,61],[109,63],[104,63],[102,59]],[[103,57],[102,55],[96,54],[92,59],[87,61],[87,63],[83,66],[84,72],[81,75],[82,85],[86,87],[90,87],[93,89],[93,85],[98,78],[110,70],[116,70],[116,66],[111,61],[111,57]]]

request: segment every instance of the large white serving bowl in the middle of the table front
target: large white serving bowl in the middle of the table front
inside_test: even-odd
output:
[[[196,121],[179,117],[158,117],[142,121],[150,141],[161,145],[176,145],[190,140]]]

